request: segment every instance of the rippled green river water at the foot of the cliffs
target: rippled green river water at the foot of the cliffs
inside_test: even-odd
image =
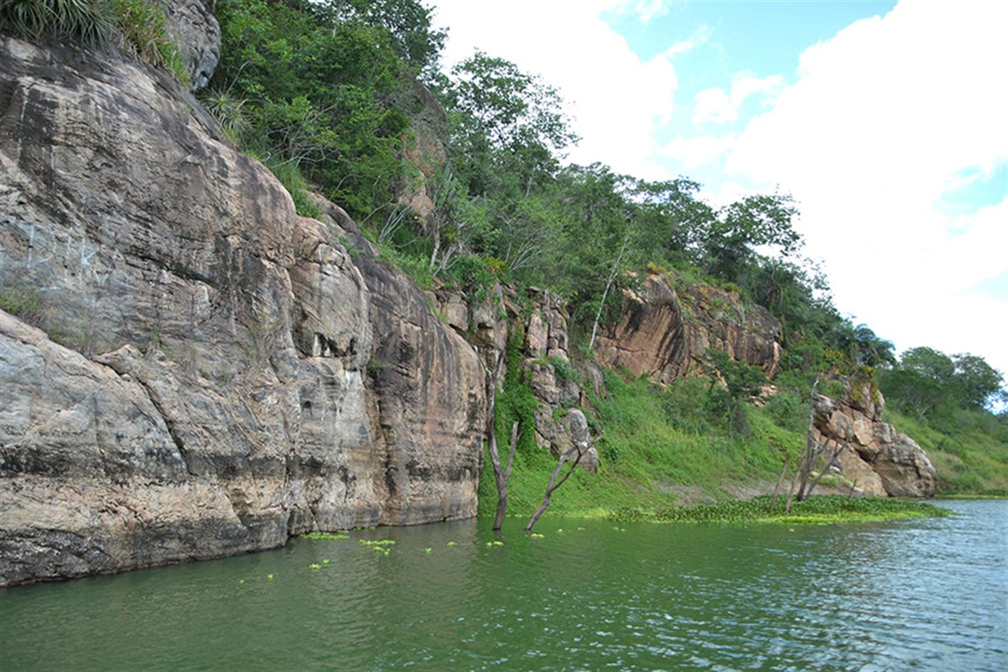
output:
[[[509,520],[490,546],[489,520],[379,528],[19,586],[0,669],[1006,670],[1008,502],[941,506],[961,515]]]

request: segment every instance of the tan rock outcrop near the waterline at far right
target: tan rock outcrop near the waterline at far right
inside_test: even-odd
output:
[[[920,446],[882,421],[885,400],[870,383],[848,385],[837,400],[812,397],[813,438],[849,441],[840,471],[871,497],[933,497],[934,467]]]

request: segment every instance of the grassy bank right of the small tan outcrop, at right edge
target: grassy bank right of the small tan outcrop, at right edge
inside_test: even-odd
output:
[[[1008,496],[1008,426],[990,414],[957,409],[918,421],[887,406],[885,420],[915,440],[938,475],[938,496]]]

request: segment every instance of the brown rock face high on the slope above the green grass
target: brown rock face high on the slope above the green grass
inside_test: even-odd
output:
[[[623,319],[601,331],[599,362],[670,383],[699,370],[708,348],[758,366],[772,376],[780,361],[780,323],[765,308],[737,294],[696,285],[676,291],[668,279],[650,275],[642,294],[628,292]]]

